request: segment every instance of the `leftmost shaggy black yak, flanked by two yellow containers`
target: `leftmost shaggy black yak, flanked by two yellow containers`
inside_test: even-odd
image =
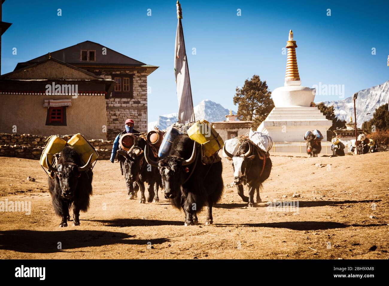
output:
[[[49,191],[53,201],[54,212],[61,216],[60,227],[67,227],[70,221],[69,209],[73,209],[73,225],[80,225],[80,211],[89,208],[89,197],[92,195],[93,172],[89,168],[92,155],[88,162],[80,167],[81,160],[73,147],[62,149],[57,167],[52,167],[46,157],[49,170],[54,172],[54,178],[49,178]]]

